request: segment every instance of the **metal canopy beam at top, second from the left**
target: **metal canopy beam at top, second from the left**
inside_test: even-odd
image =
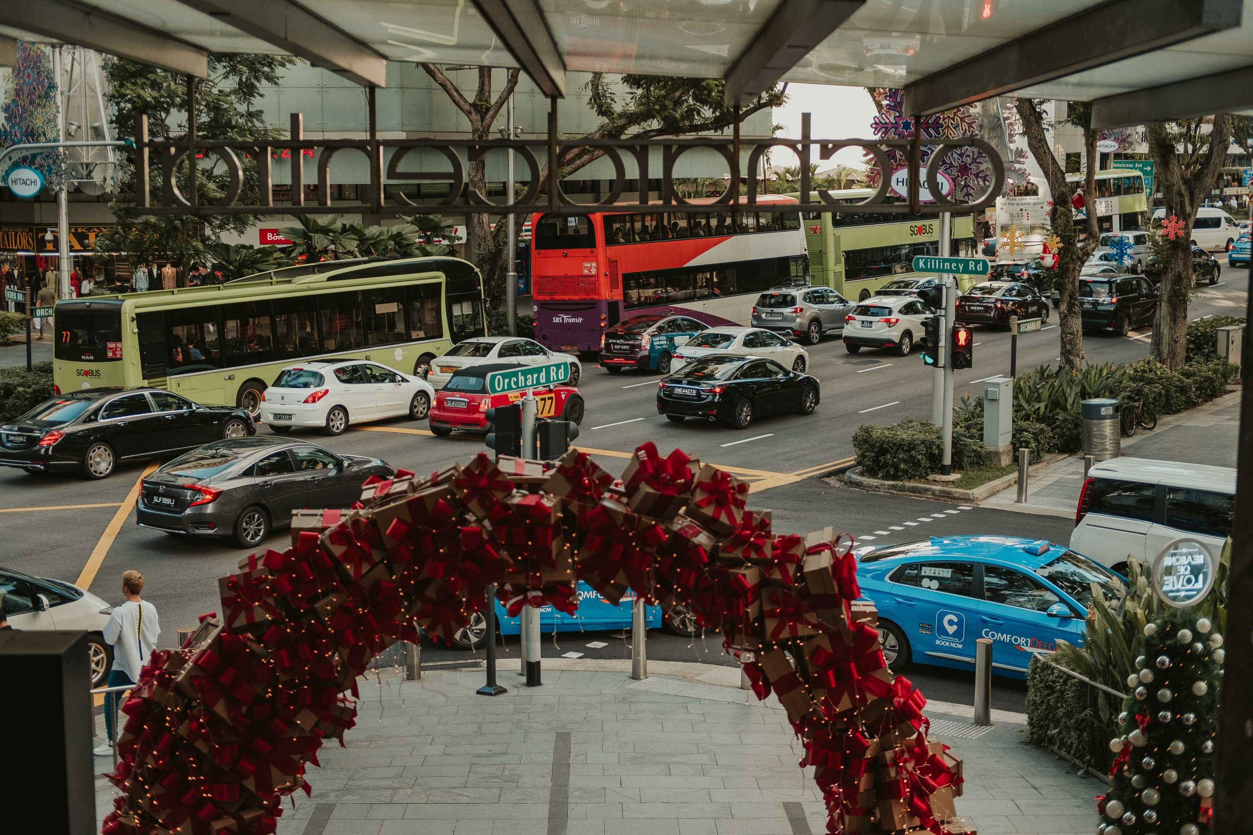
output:
[[[387,58],[292,0],[179,0],[362,86],[387,86]]]

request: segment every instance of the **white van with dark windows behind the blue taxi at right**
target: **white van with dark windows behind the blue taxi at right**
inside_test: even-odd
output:
[[[1232,532],[1235,471],[1152,458],[1114,458],[1088,471],[1070,547],[1114,571],[1157,560],[1187,536],[1217,558]]]

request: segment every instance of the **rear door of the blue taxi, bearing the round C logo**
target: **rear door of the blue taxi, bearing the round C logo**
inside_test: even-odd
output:
[[[892,588],[881,615],[905,631],[913,660],[971,669],[979,637],[975,565],[951,560],[913,562],[897,568],[890,582],[908,588]]]

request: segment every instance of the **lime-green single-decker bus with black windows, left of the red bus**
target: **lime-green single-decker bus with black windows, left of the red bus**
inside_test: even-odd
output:
[[[346,259],[179,289],[58,302],[56,393],[153,386],[256,414],[304,359],[372,359],[425,377],[486,333],[482,278],[459,258]]]

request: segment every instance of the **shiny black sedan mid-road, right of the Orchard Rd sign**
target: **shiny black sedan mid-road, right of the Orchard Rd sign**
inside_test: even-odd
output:
[[[743,429],[766,414],[812,414],[818,399],[816,377],[762,357],[709,354],[662,379],[657,411],[674,422],[695,417]]]

